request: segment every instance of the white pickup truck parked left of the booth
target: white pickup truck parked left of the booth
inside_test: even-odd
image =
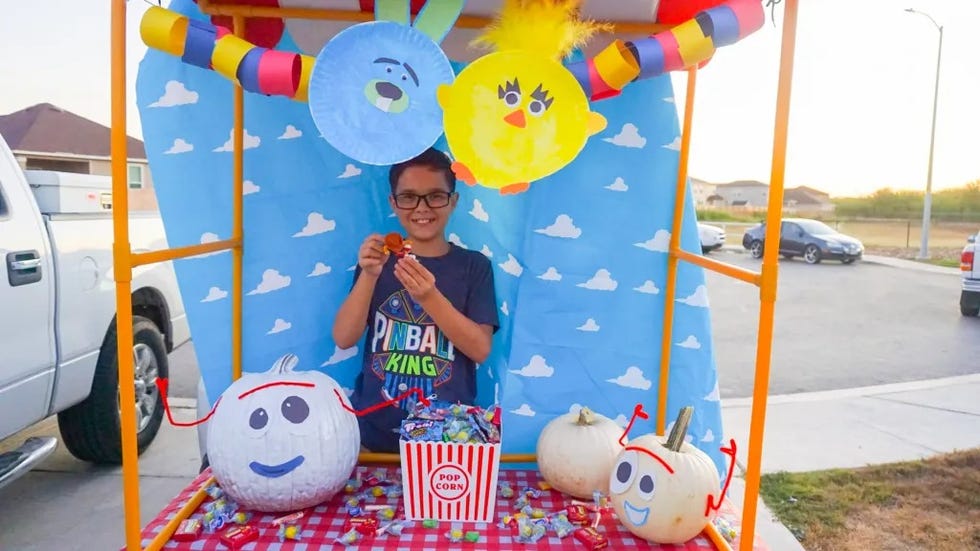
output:
[[[0,440],[57,415],[75,457],[122,460],[111,209],[110,178],[23,171],[0,138]],[[133,250],[166,247],[158,215],[133,215],[129,225]],[[141,453],[162,420],[155,381],[189,333],[173,265],[134,270]],[[0,487],[56,446],[53,437],[31,437],[0,454]]]

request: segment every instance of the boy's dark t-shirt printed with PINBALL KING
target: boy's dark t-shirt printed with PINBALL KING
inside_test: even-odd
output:
[[[493,270],[483,254],[449,245],[439,257],[417,257],[435,276],[436,288],[463,315],[499,327]],[[472,404],[476,400],[476,364],[456,350],[394,274],[394,255],[378,277],[368,310],[367,340],[361,373],[351,402],[365,409],[411,388],[427,397]],[[360,267],[354,280],[360,276]],[[375,452],[398,451],[398,429],[411,399],[359,418],[361,443]]]

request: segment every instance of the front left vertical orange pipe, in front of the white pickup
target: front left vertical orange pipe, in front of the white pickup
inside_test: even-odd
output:
[[[122,434],[126,548],[140,548],[139,454],[136,450],[136,388],[133,375],[133,267],[129,244],[126,159],[126,0],[112,0],[112,264],[116,280],[116,354]]]

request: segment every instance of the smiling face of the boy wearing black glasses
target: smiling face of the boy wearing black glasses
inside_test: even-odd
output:
[[[402,172],[395,195],[388,201],[409,239],[426,242],[444,239],[446,224],[456,208],[457,199],[458,196],[449,191],[442,172],[425,166],[410,166]]]

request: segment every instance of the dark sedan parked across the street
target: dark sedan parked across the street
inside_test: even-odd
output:
[[[803,257],[807,264],[821,260],[840,260],[850,264],[864,254],[864,245],[854,237],[844,235],[819,220],[786,218],[782,221],[779,254],[791,259]],[[762,258],[765,248],[765,222],[749,228],[742,236],[742,246],[753,258]]]

